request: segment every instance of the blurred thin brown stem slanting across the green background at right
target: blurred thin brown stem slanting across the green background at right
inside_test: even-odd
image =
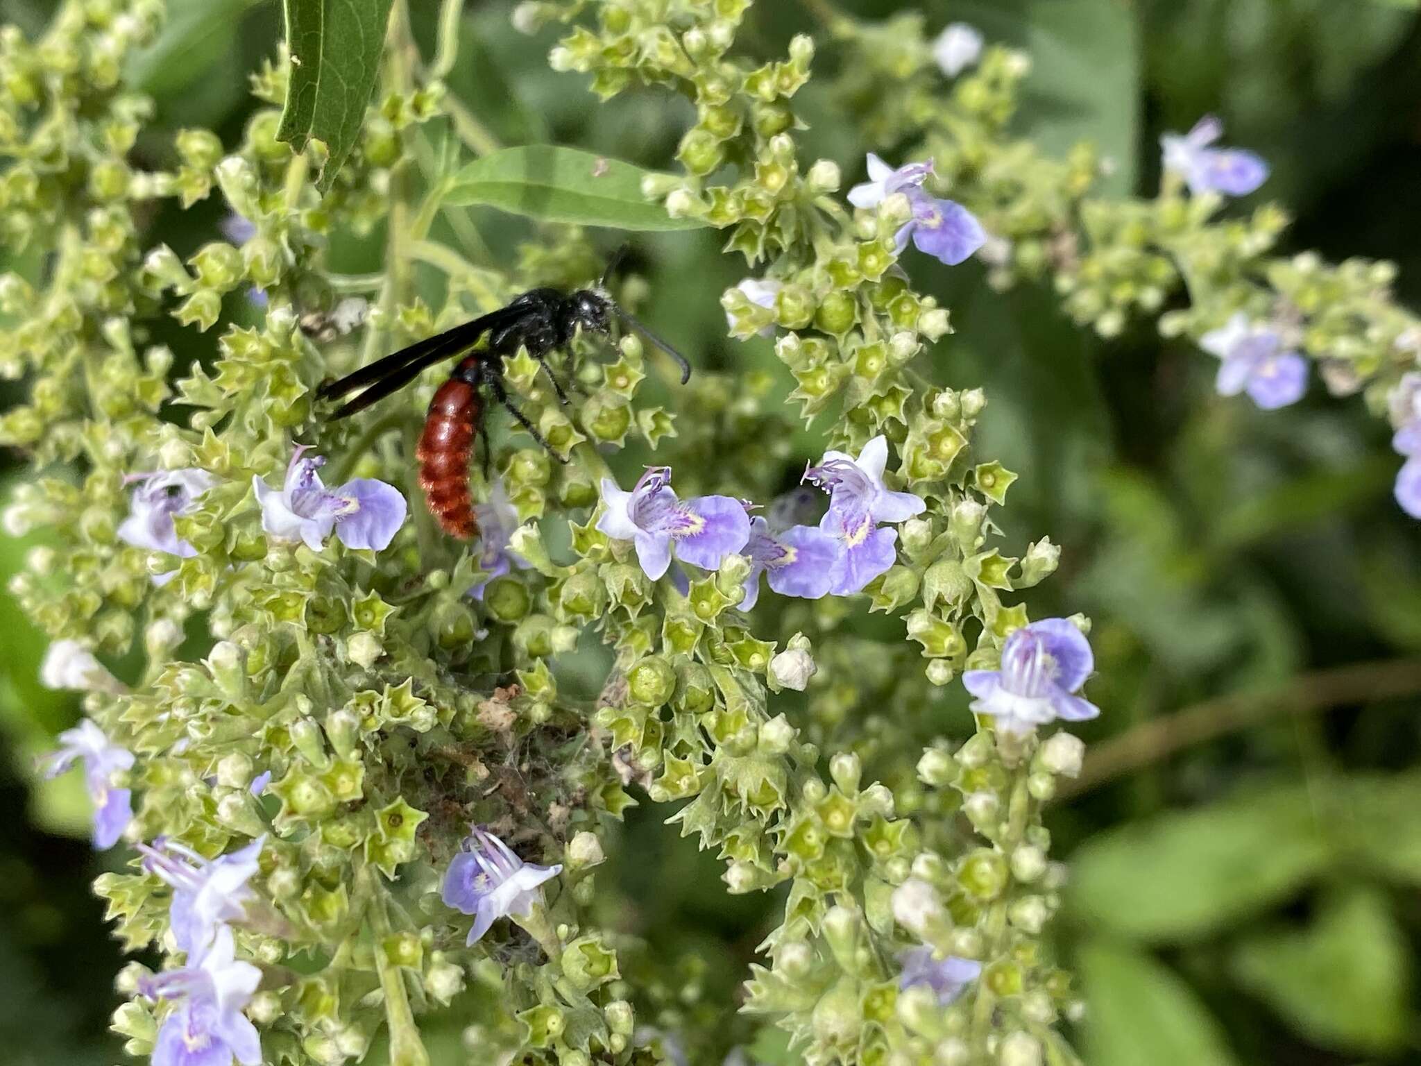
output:
[[[1090,792],[1185,748],[1246,729],[1277,714],[1306,715],[1418,692],[1421,658],[1357,662],[1300,674],[1276,688],[1231,692],[1144,722],[1106,741],[1086,755],[1086,765],[1076,780],[1060,782],[1057,797]]]

